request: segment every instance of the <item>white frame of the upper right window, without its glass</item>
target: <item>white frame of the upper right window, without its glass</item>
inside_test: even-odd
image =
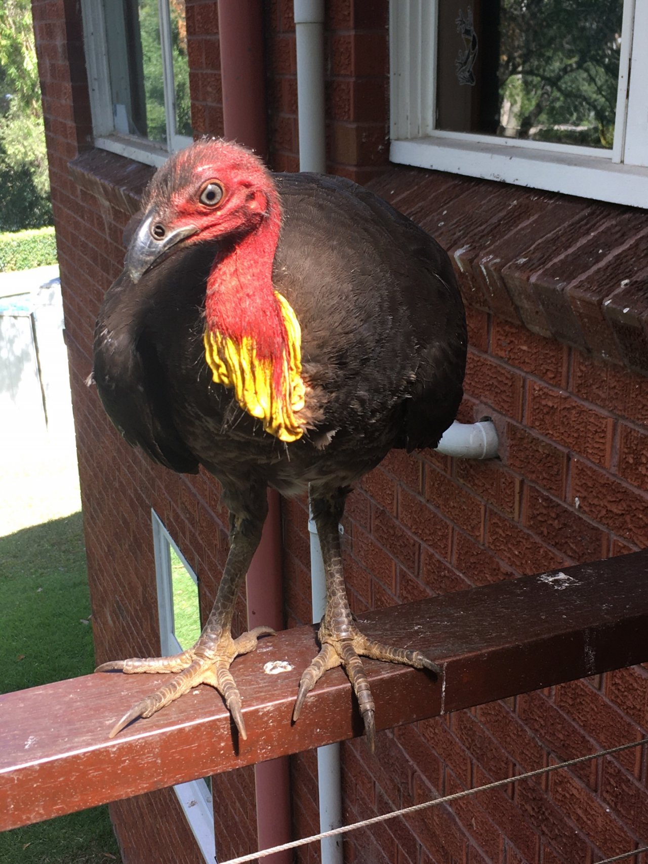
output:
[[[648,207],[647,0],[624,0],[610,150],[435,129],[438,3],[390,0],[391,162]]]

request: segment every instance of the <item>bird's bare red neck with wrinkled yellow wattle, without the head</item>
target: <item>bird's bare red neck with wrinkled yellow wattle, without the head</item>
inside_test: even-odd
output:
[[[303,433],[295,416],[304,403],[301,332],[272,284],[278,195],[272,189],[261,197],[257,225],[218,257],[207,279],[206,361],[214,381],[233,387],[241,408],[291,442]]]

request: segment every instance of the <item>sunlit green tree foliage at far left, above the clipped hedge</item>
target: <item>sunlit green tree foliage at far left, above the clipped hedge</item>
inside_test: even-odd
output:
[[[0,5],[0,231],[52,222],[29,0]]]

